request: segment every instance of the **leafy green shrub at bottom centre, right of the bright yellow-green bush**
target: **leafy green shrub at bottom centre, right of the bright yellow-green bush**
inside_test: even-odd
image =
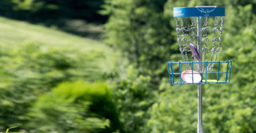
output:
[[[125,132],[142,132],[149,118],[147,110],[155,101],[151,78],[139,74],[132,65],[125,75],[112,86],[120,121]]]

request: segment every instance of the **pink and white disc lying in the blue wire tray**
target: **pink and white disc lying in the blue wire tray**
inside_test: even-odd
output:
[[[188,74],[190,73],[190,74]],[[188,82],[188,83],[198,83],[202,80],[202,77],[201,75],[196,72],[196,71],[193,71],[193,77],[192,77],[192,70],[185,70],[181,73],[181,78],[185,81],[185,82]],[[192,80],[193,78],[193,80]]]

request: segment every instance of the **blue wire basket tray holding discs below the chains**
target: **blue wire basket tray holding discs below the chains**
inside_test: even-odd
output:
[[[210,63],[215,63],[215,69],[211,70],[211,71],[207,71],[207,69],[205,69],[204,71],[201,72],[196,72],[194,71],[195,69],[195,65],[204,65],[205,68],[207,68],[207,66]],[[186,68],[183,67],[185,64],[191,64],[191,68],[190,70],[191,73],[186,73],[186,74],[191,74],[191,82],[186,82],[182,79],[182,68]],[[169,72],[169,78],[170,78],[170,82],[172,85],[186,85],[186,84],[228,84],[230,81],[230,74],[231,74],[231,65],[232,62],[231,61],[205,61],[205,62],[168,62],[168,72]],[[194,74],[195,72],[197,74],[201,75],[201,81],[199,82],[195,82],[196,79],[194,78]]]

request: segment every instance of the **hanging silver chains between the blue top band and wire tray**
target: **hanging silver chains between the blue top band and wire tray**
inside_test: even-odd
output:
[[[214,17],[214,26],[212,29],[209,28],[209,17],[203,17],[203,26],[202,26],[202,61],[216,61],[220,52],[220,44],[221,44],[221,35],[223,29],[223,19],[221,16],[220,28],[219,26],[219,17]],[[197,61],[194,56],[191,55],[189,44],[195,45],[197,47],[197,24],[195,21],[195,17],[181,17],[175,18],[176,21],[176,31],[177,31],[177,40],[180,47],[180,53],[182,55],[182,59],[185,62],[189,61]],[[180,24],[179,24],[180,22]],[[212,36],[209,39],[209,36]],[[219,36],[219,37],[218,37]],[[210,54],[208,54],[210,53]],[[190,59],[190,60],[189,60]],[[188,69],[191,69],[191,64],[186,63]],[[214,66],[214,63],[209,63],[207,66],[207,71],[210,71]],[[197,68],[197,67],[195,67]],[[206,68],[203,66],[203,71]]]

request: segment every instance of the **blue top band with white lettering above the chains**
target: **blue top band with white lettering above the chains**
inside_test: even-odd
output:
[[[196,7],[174,7],[174,17],[189,16],[225,16],[225,7],[196,6]]]

